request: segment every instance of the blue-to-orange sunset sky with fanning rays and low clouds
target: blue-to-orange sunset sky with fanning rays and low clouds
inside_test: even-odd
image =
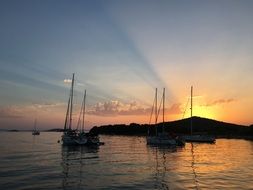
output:
[[[253,124],[252,10],[251,0],[1,0],[0,129],[63,127],[72,73],[75,118],[87,90],[86,128],[148,123],[164,87],[166,121],[189,117],[191,85],[193,115]]]

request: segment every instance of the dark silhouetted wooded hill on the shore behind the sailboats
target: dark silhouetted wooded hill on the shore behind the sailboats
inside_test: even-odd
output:
[[[190,134],[190,118],[165,122],[165,131],[176,135]],[[193,117],[193,131],[196,134],[214,135],[217,138],[242,138],[253,140],[253,125],[244,126],[213,119]],[[162,129],[163,123],[159,123],[158,130]],[[155,134],[155,126],[148,124],[131,123],[130,125],[103,125],[93,127],[90,132],[107,135],[139,135],[146,136],[147,131]]]

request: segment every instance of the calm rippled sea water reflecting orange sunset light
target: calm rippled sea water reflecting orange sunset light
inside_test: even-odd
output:
[[[171,149],[100,136],[99,148],[68,148],[60,136],[0,132],[0,189],[253,189],[251,141]]]

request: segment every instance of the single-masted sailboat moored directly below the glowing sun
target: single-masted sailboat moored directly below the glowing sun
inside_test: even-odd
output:
[[[184,136],[184,140],[186,142],[199,142],[199,143],[215,143],[215,137],[210,135],[202,135],[202,134],[193,134],[193,125],[192,125],[192,94],[193,94],[193,87],[191,86],[191,134]]]

